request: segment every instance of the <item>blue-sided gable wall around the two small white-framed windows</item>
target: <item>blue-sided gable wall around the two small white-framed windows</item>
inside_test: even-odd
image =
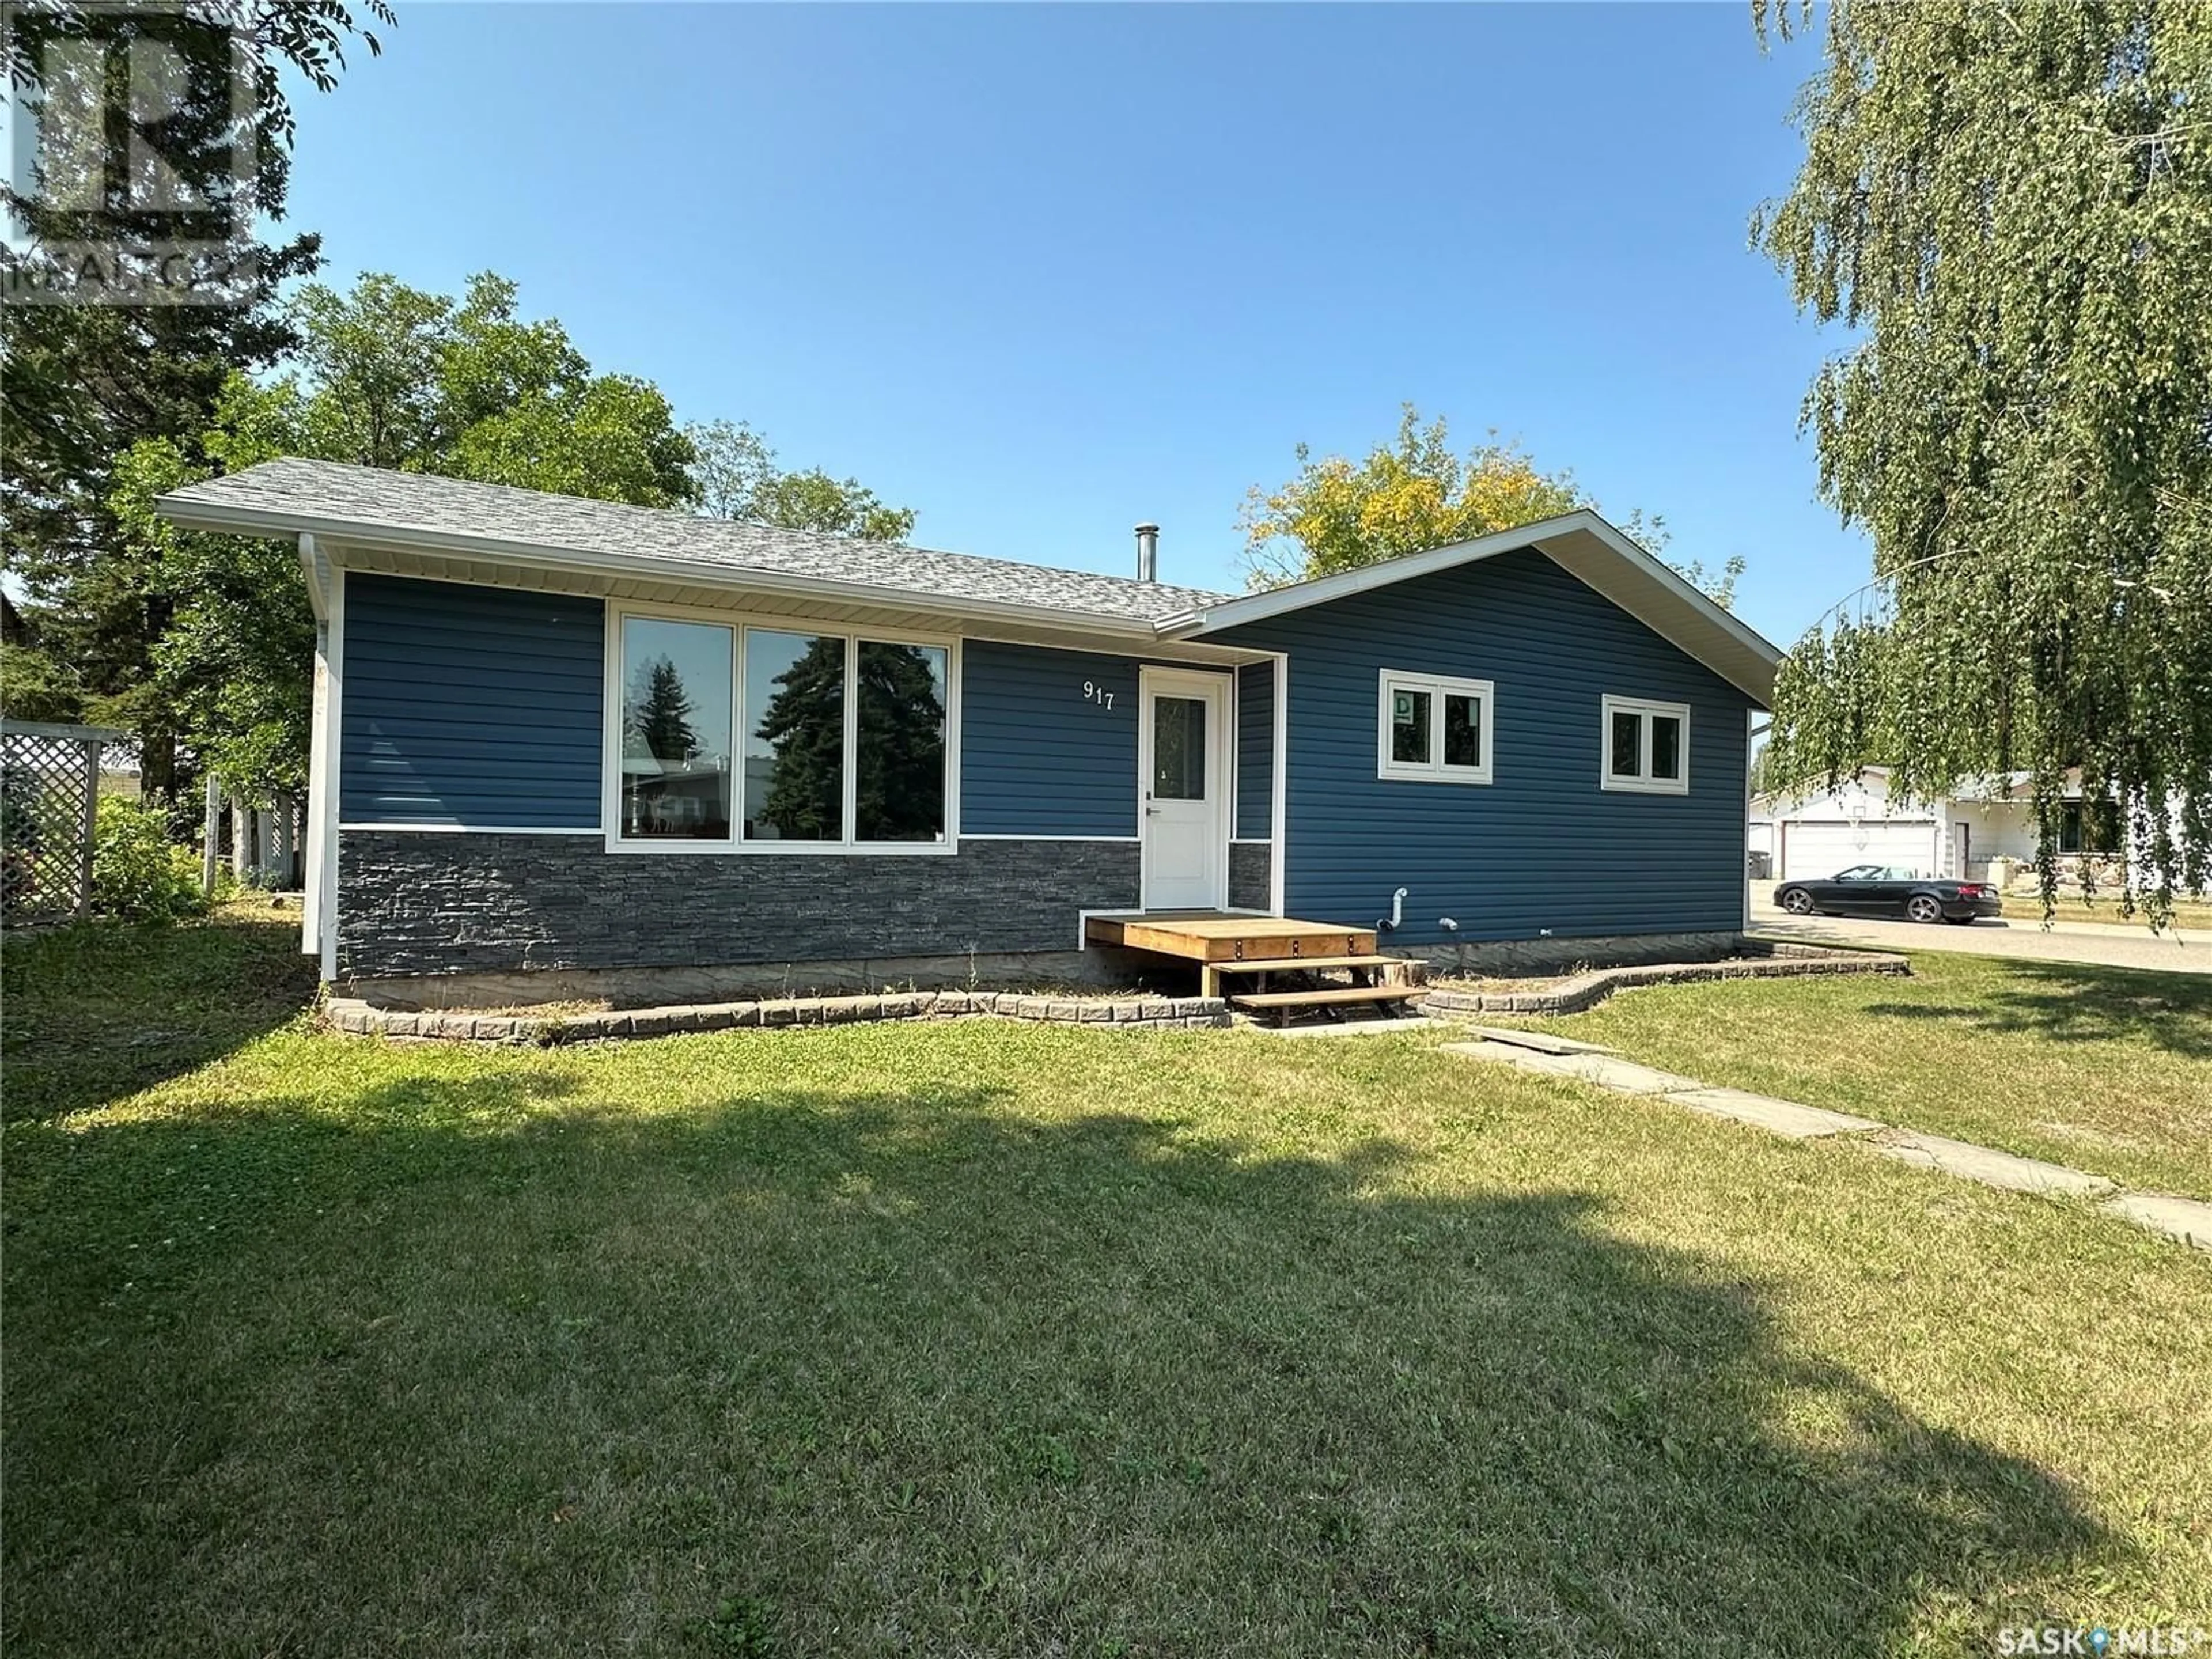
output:
[[[1542,553],[1217,635],[1290,653],[1285,905],[1396,945],[1743,922],[1750,699]],[[1378,672],[1495,684],[1489,785],[1376,776]],[[1599,699],[1690,703],[1690,792],[1599,787]]]

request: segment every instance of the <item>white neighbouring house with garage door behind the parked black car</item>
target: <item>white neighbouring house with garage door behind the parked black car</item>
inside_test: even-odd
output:
[[[2070,863],[2110,847],[2115,827],[2099,823],[2095,801],[2084,807],[2079,785],[2068,794],[2059,856]],[[2035,860],[2035,807],[2026,774],[1964,785],[1942,801],[1891,801],[1889,768],[1869,765],[1838,790],[1752,796],[1747,845],[1770,854],[1776,880],[1834,876],[1849,865],[1991,880],[1991,858]]]

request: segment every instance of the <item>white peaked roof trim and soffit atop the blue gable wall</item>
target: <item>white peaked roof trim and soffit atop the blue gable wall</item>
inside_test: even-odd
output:
[[[1628,535],[1588,509],[1577,509],[1562,518],[1546,518],[1535,524],[1520,524],[1511,531],[1478,535],[1473,542],[1453,542],[1427,553],[1365,564],[1358,571],[1325,575],[1316,582],[1296,582],[1287,588],[1270,588],[1241,599],[1183,611],[1159,619],[1161,635],[1188,637],[1239,628],[1250,622],[1265,622],[1316,604],[1387,588],[1413,577],[1453,571],[1462,564],[1515,553],[1533,546],[1564,571],[1604,593],[1613,604],[1644,622],[1652,633],[1672,641],[1690,657],[1721,675],[1739,690],[1765,706],[1774,697],[1774,670],[1783,653],[1756,628],[1732,617],[1666,562],[1655,560]],[[1608,591],[1601,582],[1604,566],[1619,571],[1628,593]],[[1637,593],[1637,588],[1644,588]]]

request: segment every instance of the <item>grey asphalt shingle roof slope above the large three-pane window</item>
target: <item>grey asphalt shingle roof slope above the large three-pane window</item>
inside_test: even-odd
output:
[[[896,542],[854,542],[816,531],[737,524],[657,507],[546,495],[336,460],[265,460],[228,478],[177,489],[164,502],[241,509],[265,515],[272,529],[290,520],[321,520],[365,531],[489,538],[573,553],[684,560],[728,575],[761,571],[1119,622],[1157,622],[1228,597],[1121,575],[936,553]]]

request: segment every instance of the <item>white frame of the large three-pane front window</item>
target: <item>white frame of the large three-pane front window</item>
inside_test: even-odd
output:
[[[745,743],[745,635],[748,633],[805,633],[836,635],[845,641],[845,841],[745,841],[745,774],[743,763],[730,779],[730,838],[695,841],[690,836],[668,836],[655,841],[630,841],[622,834],[622,624],[626,617],[650,617],[657,622],[703,622],[730,630],[730,737],[743,754]],[[938,646],[945,650],[945,838],[942,841],[854,841],[858,818],[860,776],[852,765],[860,726],[860,699],[854,695],[860,684],[860,646]],[[942,858],[960,852],[960,637],[856,628],[814,617],[741,617],[730,611],[681,604],[615,604],[606,606],[606,646],[602,675],[602,732],[599,732],[599,823],[606,849],[619,854],[759,854],[763,858]]]

